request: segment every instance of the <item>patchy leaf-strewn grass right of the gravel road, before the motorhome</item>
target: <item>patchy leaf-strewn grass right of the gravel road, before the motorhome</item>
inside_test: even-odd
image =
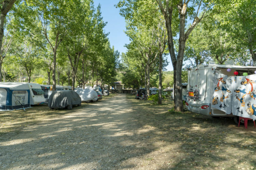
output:
[[[148,145],[160,148],[154,153],[152,165],[160,169],[256,169],[256,138],[239,133],[230,125],[233,118],[215,119],[191,112],[174,112],[173,101],[163,105],[135,100],[127,96],[138,113],[138,122],[151,129],[141,131],[150,136]],[[168,112],[170,110],[170,112]],[[146,160],[150,160],[148,155]],[[160,159],[157,159],[160,157]],[[150,163],[150,162],[149,162]]]

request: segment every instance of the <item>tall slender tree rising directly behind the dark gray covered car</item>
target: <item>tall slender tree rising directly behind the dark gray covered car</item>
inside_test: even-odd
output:
[[[56,55],[57,49],[66,37],[67,31],[71,31],[70,27],[73,24],[72,14],[78,0],[63,1],[63,0],[44,0],[33,1],[29,3],[32,9],[37,12],[38,20],[41,22],[42,32],[45,39],[49,43],[52,55],[52,84],[53,90],[56,90]]]

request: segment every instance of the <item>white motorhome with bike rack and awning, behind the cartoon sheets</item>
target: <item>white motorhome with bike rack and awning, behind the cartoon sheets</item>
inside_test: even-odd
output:
[[[231,71],[227,71],[227,69]],[[212,117],[234,117],[232,114],[213,109],[211,103],[213,101],[214,93],[214,72],[224,74],[227,76],[234,76],[237,71],[237,76],[242,76],[243,72],[248,75],[255,74],[256,67],[253,66],[237,66],[237,65],[219,65],[208,64],[199,65],[196,68],[188,70],[188,85],[187,85],[187,100],[186,107],[189,111],[198,114],[212,116]],[[214,80],[215,78],[215,80]],[[235,121],[237,118],[235,118]]]

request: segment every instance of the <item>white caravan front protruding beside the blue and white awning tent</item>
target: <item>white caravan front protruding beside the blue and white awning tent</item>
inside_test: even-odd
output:
[[[44,98],[44,91],[41,89],[40,84],[28,83],[30,90],[30,104],[37,105],[46,102]]]

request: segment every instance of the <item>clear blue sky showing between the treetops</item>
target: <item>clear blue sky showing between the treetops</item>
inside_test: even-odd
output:
[[[94,0],[95,8],[101,4],[101,15],[104,22],[108,22],[105,27],[105,32],[109,33],[109,41],[111,46],[114,45],[115,50],[118,50],[120,54],[126,52],[127,48],[124,47],[128,44],[129,38],[124,33],[125,19],[119,14],[119,8],[115,8],[119,0]],[[168,56],[169,65],[166,67],[168,71],[173,70],[170,56]]]

